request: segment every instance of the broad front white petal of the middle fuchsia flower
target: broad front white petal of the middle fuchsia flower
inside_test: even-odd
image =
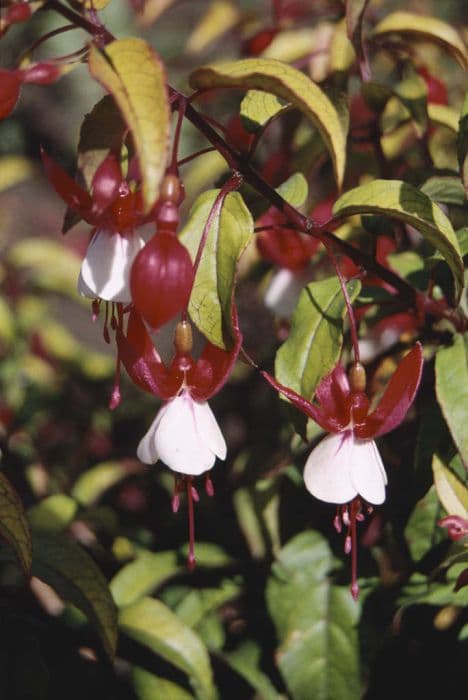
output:
[[[167,404],[155,434],[156,452],[176,472],[198,476],[211,469],[216,455],[200,434],[194,401],[182,394]]]

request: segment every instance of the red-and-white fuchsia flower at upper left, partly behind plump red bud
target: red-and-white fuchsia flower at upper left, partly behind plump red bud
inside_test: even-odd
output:
[[[130,191],[113,155],[96,170],[92,195],[44,151],[42,160],[57,194],[95,227],[81,265],[78,291],[90,299],[130,302],[130,269],[145,245],[135,229],[151,220],[151,215],[143,213],[140,192]]]

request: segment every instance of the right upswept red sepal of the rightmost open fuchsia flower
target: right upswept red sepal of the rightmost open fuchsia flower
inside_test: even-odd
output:
[[[421,380],[424,358],[420,343],[416,343],[398,365],[378,407],[362,426],[354,429],[359,438],[379,437],[396,428],[414,401]]]

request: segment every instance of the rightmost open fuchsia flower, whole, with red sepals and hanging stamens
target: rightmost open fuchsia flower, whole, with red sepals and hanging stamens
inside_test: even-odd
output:
[[[364,519],[363,508],[369,512],[385,500],[387,476],[374,438],[403,421],[416,395],[422,367],[422,348],[417,343],[401,360],[377,408],[370,412],[361,365],[353,367],[350,380],[342,365],[337,365],[317,388],[318,405],[263,372],[270,384],[329,433],[310,453],[304,481],[313,496],[338,505],[337,530],[341,531],[342,524],[348,528],[345,551],[352,553],[354,598],[359,592],[356,522]]]

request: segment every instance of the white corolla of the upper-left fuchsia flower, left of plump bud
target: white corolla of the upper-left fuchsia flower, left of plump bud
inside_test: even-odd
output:
[[[131,301],[130,269],[145,242],[138,233],[98,229],[81,265],[78,291],[105,301]]]

